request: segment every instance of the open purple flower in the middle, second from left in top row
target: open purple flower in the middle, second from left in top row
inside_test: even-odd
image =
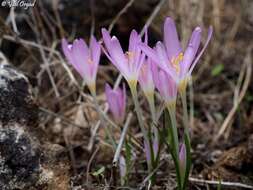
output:
[[[135,30],[132,30],[126,53],[123,52],[119,40],[115,36],[111,37],[109,32],[104,28],[102,29],[102,35],[106,46],[104,52],[108,59],[130,85],[136,85],[141,66],[145,59],[144,53],[139,48],[139,43],[141,42],[140,35]]]

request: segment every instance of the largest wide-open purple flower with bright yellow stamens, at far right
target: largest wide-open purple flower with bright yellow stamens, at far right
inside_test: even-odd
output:
[[[180,90],[186,87],[189,76],[211,39],[213,29],[209,27],[204,47],[197,54],[201,32],[200,27],[194,29],[188,46],[183,53],[175,22],[168,17],[164,23],[164,43],[157,42],[155,49],[142,44],[141,49],[176,81]]]

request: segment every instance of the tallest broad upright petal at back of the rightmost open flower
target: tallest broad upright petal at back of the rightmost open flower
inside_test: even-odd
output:
[[[167,54],[171,60],[173,57],[177,57],[182,52],[182,47],[178,39],[176,24],[170,17],[167,17],[165,20],[163,35]]]

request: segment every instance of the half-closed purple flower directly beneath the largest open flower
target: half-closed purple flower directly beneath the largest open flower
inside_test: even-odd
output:
[[[173,78],[156,64],[152,64],[155,86],[165,101],[166,106],[175,105],[177,98],[177,85]]]

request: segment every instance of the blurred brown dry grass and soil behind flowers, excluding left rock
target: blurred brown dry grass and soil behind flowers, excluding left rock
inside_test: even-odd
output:
[[[77,184],[82,184],[80,176],[85,175],[97,147],[100,150],[91,171],[100,166],[110,168],[113,153],[103,141],[103,130],[98,139],[92,138],[91,126],[98,115],[82,79],[63,56],[61,39],[84,38],[88,42],[92,34],[100,39],[101,28],[105,27],[126,49],[131,30],[141,32],[146,25],[152,46],[162,40],[163,22],[170,16],[186,47],[194,27],[203,28],[203,44],[212,25],[214,35],[189,87],[192,176],[253,184],[252,0],[37,0],[28,9],[10,8],[2,2],[0,60],[7,59],[28,76],[41,111],[39,127],[51,142],[70,150],[71,171]],[[113,85],[117,78],[118,72],[103,55],[97,78],[98,100],[103,108],[104,84]],[[144,98],[142,106],[148,117]],[[129,130],[138,138],[135,118]],[[119,136],[119,131],[115,135]],[[145,177],[142,156],[135,164],[133,186]],[[164,167],[159,169],[158,189],[174,183],[172,164],[168,162],[165,159]],[[96,177],[92,181],[104,183]],[[198,183],[192,181],[191,188],[198,189]]]

